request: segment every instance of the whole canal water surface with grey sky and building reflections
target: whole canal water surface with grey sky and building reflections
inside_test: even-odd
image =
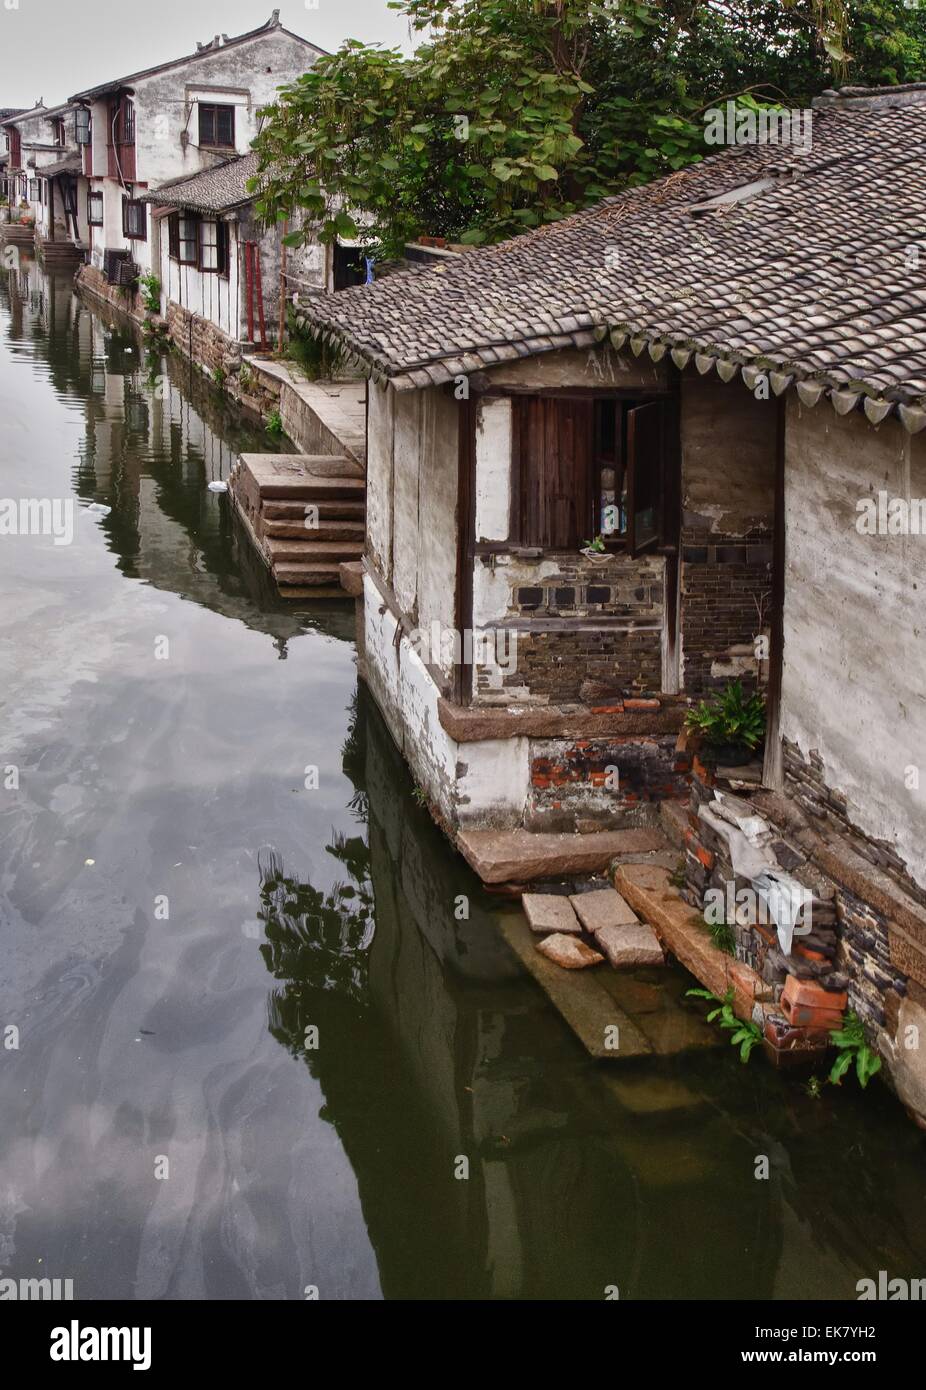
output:
[[[0,537],[0,1276],[756,1300],[926,1275],[925,1140],[880,1084],[587,1058],[417,805],[349,606],[275,599],[209,491],[268,435],[25,259],[0,430],[0,498],[76,516],[70,545]]]

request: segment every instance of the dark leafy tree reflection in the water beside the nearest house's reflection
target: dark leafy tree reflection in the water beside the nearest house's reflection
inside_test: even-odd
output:
[[[342,767],[355,784],[349,802],[366,826],[366,792],[357,785],[363,773],[362,720],[355,696],[350,726],[342,749]],[[317,994],[366,1005],[368,951],[375,933],[370,851],[363,835],[332,833],[325,845],[342,867],[327,891],[295,874],[286,874],[273,847],[257,855],[264,944],[260,951],[275,980],[284,981],[270,999],[270,1030],[293,1054],[304,1049],[304,1009]]]

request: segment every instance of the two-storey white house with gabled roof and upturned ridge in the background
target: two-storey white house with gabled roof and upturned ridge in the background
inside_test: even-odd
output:
[[[321,51],[284,28],[274,10],[247,33],[216,35],[196,53],[78,92],[71,100],[82,111],[89,218],[83,288],[111,299],[111,285],[157,274],[161,224],[146,195],[247,154],[257,113]],[[211,218],[197,224],[196,264],[204,274],[222,254],[209,240],[214,225]],[[125,261],[131,268],[120,270]]]

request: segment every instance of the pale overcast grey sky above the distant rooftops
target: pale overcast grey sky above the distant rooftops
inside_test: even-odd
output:
[[[8,8],[15,6],[15,8]],[[85,88],[256,29],[279,8],[320,49],[343,39],[409,47],[385,0],[0,0],[0,107],[53,106]]]

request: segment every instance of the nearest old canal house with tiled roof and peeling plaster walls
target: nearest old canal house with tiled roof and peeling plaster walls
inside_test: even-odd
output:
[[[473,859],[684,808],[685,706],[761,681],[762,842],[922,1118],[926,85],[812,133],[309,311],[370,374],[363,669],[438,819]]]

